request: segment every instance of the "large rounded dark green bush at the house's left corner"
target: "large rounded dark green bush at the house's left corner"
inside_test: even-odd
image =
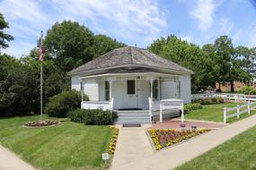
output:
[[[85,99],[88,99],[85,96]],[[64,91],[49,98],[44,112],[52,117],[66,117],[66,114],[81,106],[81,93],[76,90]]]

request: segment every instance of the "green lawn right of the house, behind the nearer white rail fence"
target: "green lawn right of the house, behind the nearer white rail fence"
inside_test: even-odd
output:
[[[190,113],[185,115],[185,119],[196,119],[196,120],[204,120],[204,121],[214,121],[214,122],[223,122],[223,108],[224,107],[234,107],[236,103],[223,103],[223,104],[216,104],[216,105],[206,105],[203,106],[202,109],[193,110]],[[241,103],[240,105],[244,105]],[[228,113],[233,114],[234,112]],[[256,114],[256,111],[251,111],[251,115]],[[240,119],[236,117],[227,119],[227,123],[233,123],[238,120],[241,120],[245,117],[248,117],[247,113],[240,115]]]

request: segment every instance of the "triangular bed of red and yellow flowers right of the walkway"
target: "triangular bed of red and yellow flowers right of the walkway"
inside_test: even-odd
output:
[[[179,143],[182,140],[188,140],[194,136],[197,136],[203,132],[208,132],[210,129],[200,130],[174,130],[174,129],[152,129],[149,131],[150,137],[153,140],[156,150],[163,149],[165,147],[172,146],[175,143]]]

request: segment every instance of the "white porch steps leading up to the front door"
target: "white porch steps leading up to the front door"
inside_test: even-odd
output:
[[[150,123],[148,110],[122,110],[117,111],[118,119],[116,124],[146,124]]]

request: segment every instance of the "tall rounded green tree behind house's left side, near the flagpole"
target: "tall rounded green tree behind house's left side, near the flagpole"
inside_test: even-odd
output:
[[[89,62],[94,56],[93,32],[75,21],[56,22],[43,41],[46,59],[64,72]]]

